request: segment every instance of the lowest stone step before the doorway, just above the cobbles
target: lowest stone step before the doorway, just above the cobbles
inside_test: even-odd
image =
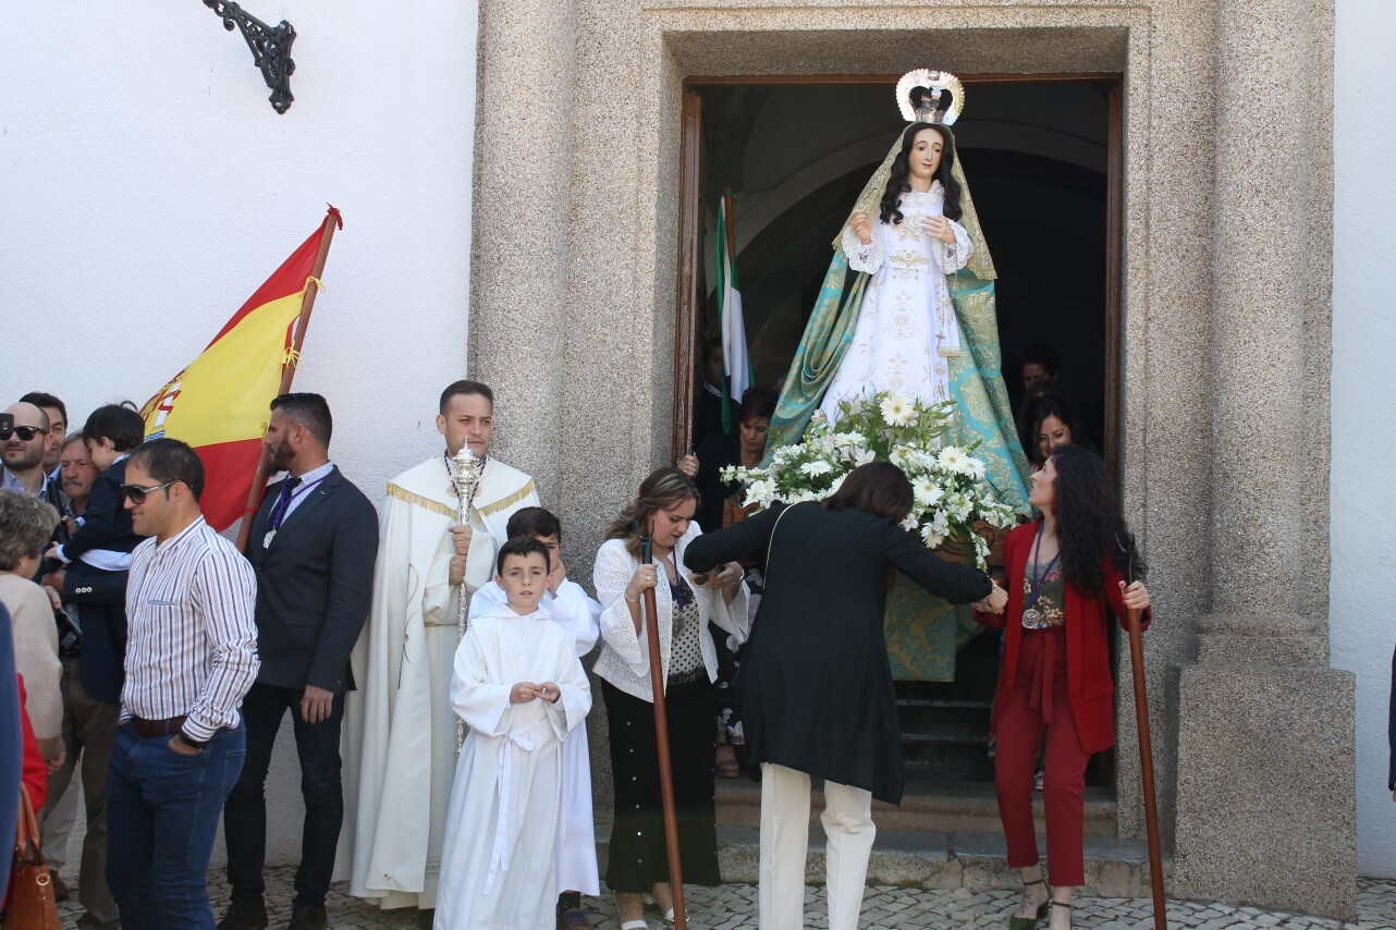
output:
[[[596,850],[606,871],[610,824],[596,822]],[[718,862],[729,884],[755,884],[759,877],[759,831],[751,827],[718,828]],[[1039,842],[1041,836],[1039,835]],[[805,884],[822,885],[824,831],[810,831]],[[1164,853],[1164,887],[1170,883],[1173,857]],[[1008,866],[1004,836],[995,834],[933,834],[878,828],[868,860],[868,885],[955,890],[970,892],[1012,891],[1022,887],[1016,869]],[[1143,839],[1114,836],[1086,838],[1087,895],[1103,898],[1149,896],[1149,855]]]

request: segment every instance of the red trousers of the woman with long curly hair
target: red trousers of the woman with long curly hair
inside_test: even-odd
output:
[[[998,719],[994,785],[998,817],[1008,841],[1008,864],[1036,866],[1033,775],[1046,737],[1043,800],[1047,809],[1047,880],[1068,888],[1086,883],[1082,793],[1086,762],[1076,719],[1067,700],[1067,637],[1064,627],[1023,630],[1018,674]]]

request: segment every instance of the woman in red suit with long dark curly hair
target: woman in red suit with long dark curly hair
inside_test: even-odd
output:
[[[1125,582],[1134,538],[1099,457],[1062,445],[1032,482],[1027,501],[1041,517],[1004,546],[1008,609],[976,619],[1007,627],[993,730],[1008,864],[1023,876],[1023,903],[1009,927],[1032,930],[1050,912],[1050,930],[1067,930],[1072,891],[1085,884],[1086,762],[1115,743],[1107,614],[1122,619],[1136,607],[1146,626],[1149,591]],[[1033,827],[1033,768],[1044,746],[1050,895]]]

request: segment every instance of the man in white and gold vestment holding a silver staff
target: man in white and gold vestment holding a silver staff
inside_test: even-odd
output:
[[[385,909],[436,906],[455,774],[459,598],[493,577],[510,514],[539,503],[533,479],[489,458],[494,399],[486,385],[451,384],[440,409],[444,455],[388,483],[373,603],[350,656],[357,690],[345,701],[345,828],[335,877]],[[461,528],[447,458],[466,443],[484,469]]]

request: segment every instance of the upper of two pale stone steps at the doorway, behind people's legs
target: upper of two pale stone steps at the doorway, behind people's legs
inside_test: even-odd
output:
[[[748,778],[718,779],[718,825],[759,827],[761,785]],[[815,788],[810,799],[810,828],[819,827],[824,792]],[[1043,834],[1041,795],[1033,799],[1037,832]],[[919,782],[907,781],[902,806],[872,802],[878,829],[928,834],[997,834],[1001,829],[998,802],[988,782]],[[1115,797],[1110,788],[1092,786],[1085,797],[1087,836],[1113,838],[1117,832]]]

